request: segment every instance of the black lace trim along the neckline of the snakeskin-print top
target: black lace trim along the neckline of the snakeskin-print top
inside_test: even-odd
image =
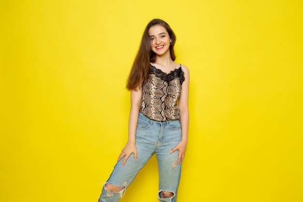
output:
[[[182,85],[183,81],[185,80],[184,72],[181,68],[181,64],[180,64],[180,67],[178,69],[175,69],[175,70],[169,72],[168,74],[151,64],[150,65],[150,74],[153,74],[156,77],[159,77],[162,80],[167,81],[167,82],[170,82],[175,78],[179,78],[181,85]]]

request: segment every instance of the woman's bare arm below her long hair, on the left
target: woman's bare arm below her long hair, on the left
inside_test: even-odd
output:
[[[124,146],[121,154],[118,157],[118,161],[125,156],[122,166],[124,166],[128,157],[131,154],[135,155],[135,160],[137,160],[137,150],[136,150],[136,126],[138,122],[139,109],[141,103],[142,90],[132,90],[131,91],[131,110],[129,113],[128,121],[128,141]]]

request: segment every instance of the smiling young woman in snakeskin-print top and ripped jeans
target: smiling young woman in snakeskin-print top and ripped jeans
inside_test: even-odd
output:
[[[160,202],[176,202],[187,146],[188,68],[175,61],[176,36],[161,19],[145,28],[127,80],[131,91],[128,141],[99,202],[118,202],[136,174],[156,155]]]

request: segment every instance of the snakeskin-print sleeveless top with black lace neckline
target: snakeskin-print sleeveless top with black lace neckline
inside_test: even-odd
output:
[[[180,119],[178,98],[185,80],[180,67],[165,73],[150,65],[150,76],[142,86],[140,113],[156,121]]]

